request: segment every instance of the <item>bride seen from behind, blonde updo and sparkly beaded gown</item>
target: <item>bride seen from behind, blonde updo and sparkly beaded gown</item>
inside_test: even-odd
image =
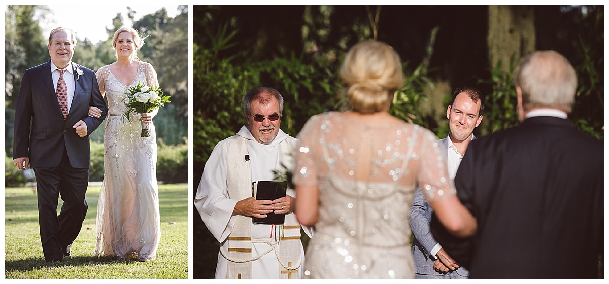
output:
[[[462,235],[473,234],[475,222],[449,182],[437,137],[387,112],[403,85],[395,51],[359,43],[340,77],[353,111],[313,116],[298,134],[296,216],[315,224],[305,277],[414,278],[408,220],[417,184],[434,209],[446,209],[438,212],[445,225],[447,210],[468,224]]]

